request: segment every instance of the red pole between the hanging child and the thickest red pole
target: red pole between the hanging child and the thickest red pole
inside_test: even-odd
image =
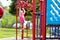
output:
[[[35,24],[36,23],[35,22],[36,21],[36,15],[35,15],[35,13],[36,13],[36,0],[33,0],[33,7],[32,7],[32,9],[33,9],[33,15],[32,15],[32,17],[33,17],[32,18],[32,20],[33,20],[33,27],[32,27],[33,32],[32,33],[33,33],[33,40],[35,40],[35,33],[36,33],[35,32],[35,28],[36,28],[36,26],[35,26],[36,25]]]

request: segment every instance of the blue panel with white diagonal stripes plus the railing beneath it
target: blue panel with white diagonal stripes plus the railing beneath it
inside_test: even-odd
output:
[[[50,39],[60,40],[60,0],[47,0],[47,28],[50,30]]]

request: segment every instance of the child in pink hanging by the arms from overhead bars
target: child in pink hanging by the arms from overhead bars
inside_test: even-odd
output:
[[[25,18],[24,18],[24,14],[25,14],[25,9],[21,8],[19,9],[19,17],[20,17],[20,22],[22,24],[22,29],[20,30],[20,33],[22,34],[22,39],[24,38],[24,22],[25,22]]]

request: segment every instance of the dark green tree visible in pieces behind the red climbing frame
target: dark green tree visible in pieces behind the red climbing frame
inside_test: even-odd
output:
[[[11,0],[11,5],[9,6],[10,7],[10,10],[9,10],[9,12],[11,13],[11,14],[13,14],[13,15],[16,15],[16,1],[17,0]],[[27,0],[24,0],[25,2],[27,1]],[[31,3],[32,4],[32,0],[28,0],[29,1],[29,3]],[[39,0],[37,0],[37,4],[39,4]],[[39,10],[39,6],[37,5],[37,7],[36,7],[36,10]],[[27,13],[31,16],[32,15],[32,13],[31,13],[31,10],[27,10]]]

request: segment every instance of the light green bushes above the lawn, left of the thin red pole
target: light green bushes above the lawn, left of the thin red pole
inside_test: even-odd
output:
[[[11,28],[15,22],[16,16],[13,16],[9,12],[5,11],[5,15],[2,19],[2,27]]]

